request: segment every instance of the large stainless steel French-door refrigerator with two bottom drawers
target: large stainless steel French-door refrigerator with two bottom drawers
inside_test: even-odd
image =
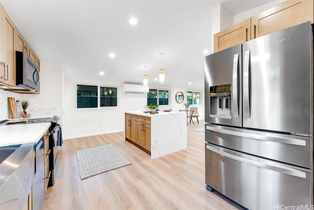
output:
[[[313,91],[310,22],[207,56],[207,189],[252,210],[310,209]]]

